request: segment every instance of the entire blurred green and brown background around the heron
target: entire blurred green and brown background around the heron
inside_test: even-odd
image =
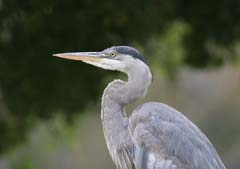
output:
[[[182,111],[240,168],[239,0],[0,0],[0,169],[110,169],[104,87],[125,76],[59,52],[139,49],[145,99]]]

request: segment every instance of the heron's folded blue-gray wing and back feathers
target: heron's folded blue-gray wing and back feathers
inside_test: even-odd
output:
[[[167,164],[171,169],[225,169],[201,130],[165,104],[151,102],[134,110],[129,118],[129,132],[136,146],[145,146],[148,162],[152,155],[158,160],[155,165],[166,165],[161,169],[167,169]]]

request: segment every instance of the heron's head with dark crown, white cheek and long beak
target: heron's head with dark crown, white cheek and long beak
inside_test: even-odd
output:
[[[121,72],[128,72],[138,63],[146,65],[144,57],[135,48],[129,46],[113,46],[101,52],[59,53],[53,56],[79,60],[103,69]]]

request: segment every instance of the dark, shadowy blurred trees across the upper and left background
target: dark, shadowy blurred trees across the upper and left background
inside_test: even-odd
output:
[[[239,8],[238,0],[1,0],[0,151],[22,139],[35,119],[56,112],[70,119],[102,91],[101,70],[51,54],[144,45],[177,20],[189,29],[180,41],[186,53],[176,49],[180,56],[176,51],[169,67],[219,65],[237,60],[220,49],[229,51],[240,38]]]

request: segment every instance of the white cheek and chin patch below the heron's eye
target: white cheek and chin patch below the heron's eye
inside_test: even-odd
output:
[[[103,68],[103,69],[107,69],[107,70],[123,71],[125,68],[124,64],[121,63],[121,61],[113,60],[113,59],[103,58],[101,62],[85,61],[85,60],[83,62]]]

